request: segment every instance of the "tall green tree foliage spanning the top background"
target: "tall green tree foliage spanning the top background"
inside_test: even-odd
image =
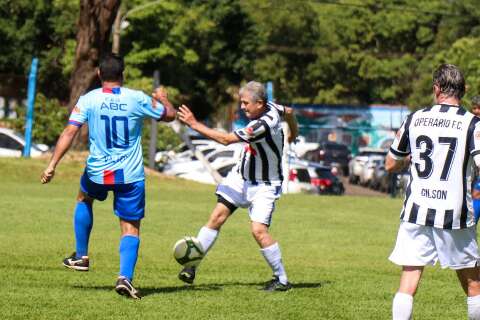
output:
[[[0,74],[40,57],[39,90],[65,101],[78,1],[0,0]],[[480,92],[477,0],[132,0],[124,2],[126,84],[153,71],[175,102],[221,119],[249,80],[273,81],[283,102],[431,104],[431,74],[458,64],[465,103]]]

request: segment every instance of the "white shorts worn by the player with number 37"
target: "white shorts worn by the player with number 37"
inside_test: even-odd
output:
[[[390,261],[401,266],[435,265],[460,270],[479,262],[476,226],[447,230],[414,223],[400,223]]]

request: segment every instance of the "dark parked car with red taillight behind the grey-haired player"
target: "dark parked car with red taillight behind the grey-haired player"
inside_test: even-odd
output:
[[[350,149],[344,144],[321,142],[318,148],[307,151],[303,158],[326,167],[337,167],[343,175],[348,175],[351,156]]]

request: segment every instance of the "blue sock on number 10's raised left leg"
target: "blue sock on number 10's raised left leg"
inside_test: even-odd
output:
[[[76,258],[88,255],[88,240],[93,226],[92,206],[86,202],[77,202],[73,218],[76,241]]]

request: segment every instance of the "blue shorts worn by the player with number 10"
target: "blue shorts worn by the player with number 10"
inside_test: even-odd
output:
[[[145,181],[127,184],[98,184],[83,173],[80,189],[89,197],[99,201],[107,199],[108,191],[113,191],[113,211],[127,221],[140,220],[145,216]]]

